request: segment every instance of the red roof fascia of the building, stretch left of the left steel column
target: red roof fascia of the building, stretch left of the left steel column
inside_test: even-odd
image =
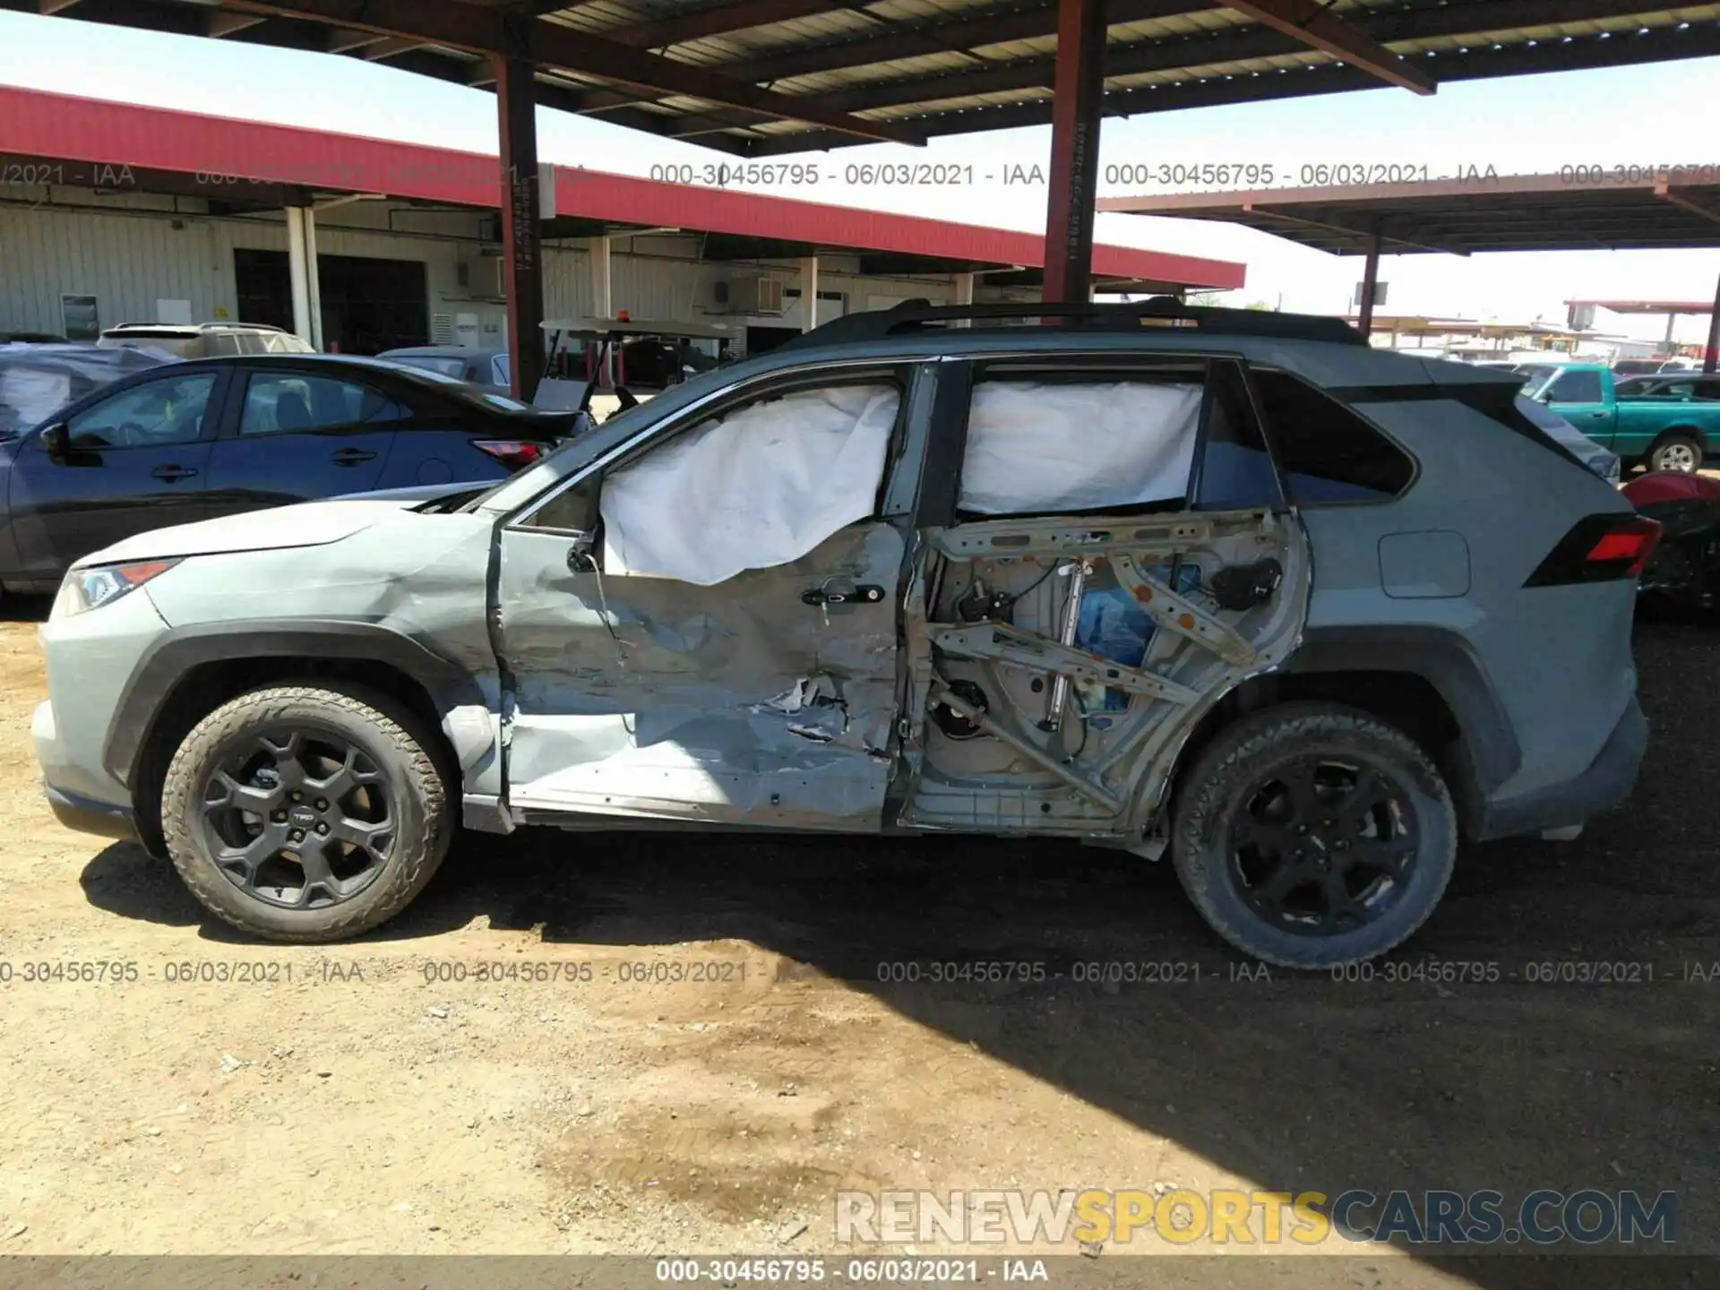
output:
[[[466,206],[495,206],[501,189],[483,153],[12,86],[0,86],[0,150]]]

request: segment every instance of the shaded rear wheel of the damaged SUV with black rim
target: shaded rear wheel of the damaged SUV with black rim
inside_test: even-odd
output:
[[[1176,798],[1175,865],[1247,955],[1330,968],[1383,955],[1433,913],[1457,814],[1433,762],[1376,717],[1285,703],[1238,721]]]

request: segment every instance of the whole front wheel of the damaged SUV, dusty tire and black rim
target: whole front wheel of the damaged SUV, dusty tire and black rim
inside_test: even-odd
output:
[[[427,726],[356,688],[222,703],[167,767],[174,867],[212,913],[272,941],[337,941],[392,918],[452,836]]]

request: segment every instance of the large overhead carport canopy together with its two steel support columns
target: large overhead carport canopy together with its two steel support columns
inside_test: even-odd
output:
[[[1720,55],[1646,0],[0,0],[494,86],[509,337],[542,318],[531,103],[743,157],[1053,124],[1044,294],[1087,299],[1106,115]]]

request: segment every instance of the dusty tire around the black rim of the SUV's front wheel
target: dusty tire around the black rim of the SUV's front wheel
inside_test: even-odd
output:
[[[200,827],[200,793],[224,748],[267,728],[334,728],[384,772],[401,822],[382,872],[358,894],[325,908],[268,905],[232,882],[212,860]],[[327,683],[277,685],[239,695],[200,721],[167,767],[162,832],[174,869],[191,894],[218,918],[268,941],[315,944],[377,927],[423,891],[454,836],[439,743],[428,722],[387,695]]]

